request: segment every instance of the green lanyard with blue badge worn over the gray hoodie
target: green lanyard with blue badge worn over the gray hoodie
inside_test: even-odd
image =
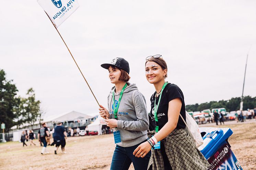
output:
[[[119,105],[120,105],[120,101],[122,99],[122,96],[123,96],[123,93],[124,93],[124,90],[125,88],[127,87],[127,83],[125,83],[125,86],[123,87],[123,89],[121,90],[120,92],[120,97],[119,97],[119,100],[118,100],[118,103],[117,103],[117,106],[115,104],[115,88],[113,89],[113,109],[114,109],[114,116],[115,116],[115,119],[117,120],[117,112],[118,112],[118,108],[119,108]],[[114,132],[114,140],[115,140],[115,143],[119,143],[121,142],[121,135],[120,135],[120,131],[117,130]]]

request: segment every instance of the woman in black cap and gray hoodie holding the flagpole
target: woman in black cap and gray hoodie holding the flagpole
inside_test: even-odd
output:
[[[115,58],[110,64],[102,64],[108,69],[110,82],[115,86],[108,95],[108,107],[100,105],[100,115],[108,127],[114,128],[116,145],[110,170],[128,170],[131,162],[135,170],[146,170],[150,152],[143,158],[132,155],[142,142],[147,141],[149,119],[145,97],[136,84],[128,83],[129,63],[124,58]]]

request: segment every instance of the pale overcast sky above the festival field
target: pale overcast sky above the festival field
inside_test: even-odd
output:
[[[130,64],[150,110],[152,84],[145,77],[149,55],[162,54],[167,81],[177,84],[185,104],[256,96],[255,0],[80,0],[61,26],[98,101],[106,106],[113,84],[100,65],[115,57]],[[2,1],[0,69],[20,96],[33,88],[48,115],[98,112],[98,106],[57,31],[36,0]]]

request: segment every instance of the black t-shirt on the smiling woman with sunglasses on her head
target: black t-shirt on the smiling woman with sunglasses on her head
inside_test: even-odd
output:
[[[158,101],[159,101],[159,97],[160,97],[160,95],[158,97],[156,97],[156,102],[155,102],[155,94],[156,94],[156,92],[154,92],[154,94],[150,98],[150,101],[151,101],[150,115],[151,115],[151,121],[153,121],[153,122],[155,122],[154,106],[155,106],[155,104],[158,105]],[[182,106],[181,106],[180,113],[181,113],[183,119],[186,121],[186,109],[185,109],[184,95],[183,95],[181,89],[177,85],[168,83],[162,92],[160,105],[156,106],[156,107],[159,107],[158,112],[157,112],[159,130],[168,121],[169,102],[176,98],[181,99]],[[182,129],[182,128],[186,128],[186,125],[185,125],[184,121],[182,120],[182,118],[179,116],[176,129]]]

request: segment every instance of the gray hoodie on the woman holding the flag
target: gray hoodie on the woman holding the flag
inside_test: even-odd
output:
[[[117,145],[129,147],[137,145],[148,138],[149,117],[145,97],[138,91],[136,84],[127,83],[117,113],[117,130],[120,131],[121,142]],[[110,118],[114,119],[113,89],[108,96]],[[114,93],[115,104],[120,96]]]

